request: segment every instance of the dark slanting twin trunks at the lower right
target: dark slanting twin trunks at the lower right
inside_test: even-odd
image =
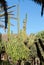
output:
[[[43,43],[41,43],[41,42],[42,42],[41,39],[38,39],[38,41],[39,41],[40,46],[41,46],[41,44],[43,45]],[[40,59],[40,65],[42,65],[42,61],[44,62],[44,57],[43,57],[43,55],[41,54],[42,51],[40,51],[41,49],[39,48],[38,42],[35,42],[35,46],[36,46],[36,49],[37,49],[37,55],[38,55],[38,57],[39,57],[39,59]],[[44,45],[43,45],[43,46],[44,46]],[[42,48],[42,46],[41,46],[41,48]],[[43,48],[42,48],[42,49],[43,49]],[[43,52],[44,52],[44,51],[43,51]]]

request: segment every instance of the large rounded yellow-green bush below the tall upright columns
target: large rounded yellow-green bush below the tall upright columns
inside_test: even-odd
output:
[[[27,59],[29,57],[29,49],[25,47],[23,42],[20,40],[18,41],[17,38],[11,39],[11,41],[4,42],[6,53],[12,58],[15,62],[18,59]]]

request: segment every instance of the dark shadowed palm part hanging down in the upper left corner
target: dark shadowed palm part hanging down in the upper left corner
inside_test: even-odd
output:
[[[7,13],[7,3],[5,0],[0,0],[0,6],[4,10],[5,14],[5,29],[7,28],[7,23],[8,23],[8,13]]]

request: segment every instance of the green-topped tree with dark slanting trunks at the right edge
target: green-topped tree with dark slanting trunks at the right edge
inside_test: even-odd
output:
[[[36,35],[35,46],[37,49],[37,55],[40,59],[40,65],[42,65],[42,62],[44,62],[44,31],[39,32]]]

